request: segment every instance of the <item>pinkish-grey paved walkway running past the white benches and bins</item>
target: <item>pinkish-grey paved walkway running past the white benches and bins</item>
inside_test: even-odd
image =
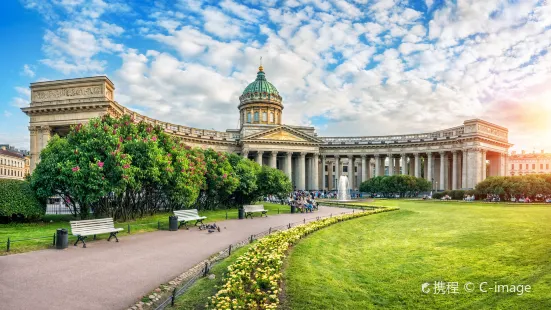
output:
[[[119,243],[90,241],[86,249],[69,245],[1,256],[0,309],[126,309],[230,243],[269,227],[350,211],[320,207],[313,214],[219,222],[221,233],[155,231],[124,236]]]

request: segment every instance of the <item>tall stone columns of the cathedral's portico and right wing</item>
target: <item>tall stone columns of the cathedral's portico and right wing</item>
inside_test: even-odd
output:
[[[243,157],[283,171],[298,190],[336,190],[340,176],[350,186],[376,176],[411,175],[432,183],[433,190],[474,188],[489,176],[505,176],[506,154],[480,148],[415,153],[320,154],[248,150]]]

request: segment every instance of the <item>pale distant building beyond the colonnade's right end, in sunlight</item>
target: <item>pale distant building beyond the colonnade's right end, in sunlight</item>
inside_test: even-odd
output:
[[[544,150],[540,153],[521,151],[520,154],[513,151],[509,156],[509,163],[511,175],[551,173],[551,154],[545,153]]]

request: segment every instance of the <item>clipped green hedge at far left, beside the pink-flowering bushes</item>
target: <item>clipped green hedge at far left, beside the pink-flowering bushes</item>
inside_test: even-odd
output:
[[[36,219],[46,213],[46,205],[38,201],[29,182],[0,179],[0,217]]]

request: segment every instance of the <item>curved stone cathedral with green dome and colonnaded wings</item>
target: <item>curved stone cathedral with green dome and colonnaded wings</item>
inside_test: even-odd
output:
[[[318,137],[314,127],[284,125],[283,100],[262,66],[239,97],[241,128],[226,132],[151,119],[121,106],[114,95],[105,76],[32,83],[30,106],[22,108],[30,117],[31,171],[53,134],[63,136],[70,125],[104,114],[128,114],[190,146],[281,169],[296,189],[333,190],[341,175],[348,175],[351,188],[374,176],[409,174],[432,181],[434,189],[473,188],[487,176],[508,175],[508,130],[480,119],[429,133],[366,137]]]

